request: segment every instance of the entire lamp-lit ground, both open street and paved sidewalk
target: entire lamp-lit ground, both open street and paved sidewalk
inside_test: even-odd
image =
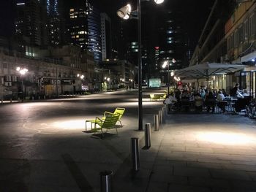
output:
[[[132,174],[130,138],[140,138],[137,94],[102,93],[2,104],[0,191],[100,191],[99,172],[112,170],[115,191],[255,191],[255,121],[239,115],[168,115]],[[125,107],[124,125],[105,139],[85,120]],[[144,122],[162,101],[143,96]],[[124,188],[124,186],[126,186]]]

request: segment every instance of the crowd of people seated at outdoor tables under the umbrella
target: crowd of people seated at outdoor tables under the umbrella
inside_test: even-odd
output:
[[[234,88],[230,90],[230,95],[227,94],[225,89],[209,90],[200,88],[199,91],[190,91],[189,88],[181,90],[176,90],[173,93],[170,93],[165,99],[164,103],[167,104],[168,110],[178,110],[181,109],[182,105],[186,102],[192,103],[195,107],[195,111],[202,111],[203,105],[206,106],[207,112],[215,112],[216,105],[226,112],[225,108],[227,106],[227,97],[239,97],[239,94],[243,96],[241,90],[239,90],[239,84],[237,83]],[[189,105],[187,105],[189,108]],[[188,109],[189,110],[189,109]]]

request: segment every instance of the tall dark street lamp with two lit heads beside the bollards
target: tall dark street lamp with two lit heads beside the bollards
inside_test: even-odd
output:
[[[138,9],[135,11],[132,11],[132,7],[130,4],[127,4],[124,7],[121,7],[121,9],[118,9],[116,12],[119,18],[122,19],[129,19],[129,18],[137,18],[138,19],[138,116],[139,116],[139,131],[143,131],[143,107],[142,107],[142,59],[141,59],[141,9],[140,9],[140,1],[138,0]],[[150,0],[144,0],[144,1],[150,1]],[[162,4],[162,2],[165,0],[154,0],[156,4]],[[137,13],[137,17],[134,17]]]

